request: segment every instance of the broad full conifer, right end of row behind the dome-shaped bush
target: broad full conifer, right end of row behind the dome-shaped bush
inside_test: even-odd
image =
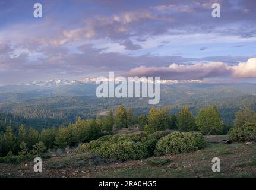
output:
[[[223,131],[222,119],[216,106],[200,109],[195,124],[203,135],[220,134]]]

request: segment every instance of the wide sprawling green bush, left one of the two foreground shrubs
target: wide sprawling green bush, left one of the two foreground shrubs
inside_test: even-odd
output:
[[[108,135],[83,144],[79,151],[99,153],[105,158],[116,160],[137,160],[154,154],[157,141],[165,136],[164,131],[147,135]]]

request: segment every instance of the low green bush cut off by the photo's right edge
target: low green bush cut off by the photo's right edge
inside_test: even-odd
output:
[[[229,140],[235,142],[256,141],[256,125],[244,124],[242,127],[232,128],[229,132]]]

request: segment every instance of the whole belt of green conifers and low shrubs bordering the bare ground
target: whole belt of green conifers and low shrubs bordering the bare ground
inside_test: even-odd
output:
[[[162,109],[151,107],[147,115],[138,117],[131,108],[119,105],[115,112],[110,109],[103,118],[77,118],[75,123],[59,128],[38,131],[22,124],[14,131],[12,126],[7,126],[0,133],[0,162],[20,163],[33,156],[51,157],[54,152],[67,151],[69,147],[115,160],[189,153],[206,147],[203,135],[229,132],[231,141],[254,141],[255,122],[256,113],[249,107],[236,113],[233,128],[229,128],[215,105],[202,107],[196,117],[187,106],[176,115],[170,114],[166,106]],[[140,132],[113,134],[113,128],[129,126],[135,126]]]

